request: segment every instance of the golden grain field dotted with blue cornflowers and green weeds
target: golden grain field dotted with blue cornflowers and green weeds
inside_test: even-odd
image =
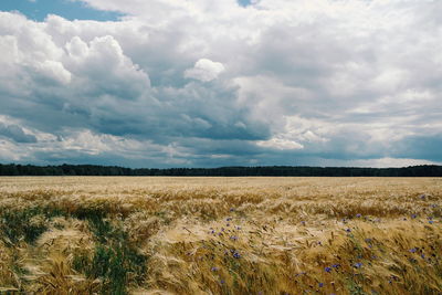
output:
[[[0,293],[441,294],[440,178],[0,178]]]

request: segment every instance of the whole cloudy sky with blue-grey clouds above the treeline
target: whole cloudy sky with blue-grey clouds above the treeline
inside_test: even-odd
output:
[[[0,0],[0,162],[442,164],[440,0]]]

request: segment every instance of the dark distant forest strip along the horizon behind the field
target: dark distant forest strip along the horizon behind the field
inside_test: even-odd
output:
[[[0,165],[0,176],[303,176],[303,177],[442,177],[442,166],[422,165],[404,168],[351,167],[220,167],[220,168],[141,168],[96,165]]]

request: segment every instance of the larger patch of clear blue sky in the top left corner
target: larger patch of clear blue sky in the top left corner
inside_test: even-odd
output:
[[[67,20],[116,21],[123,14],[101,11],[84,2],[73,0],[0,0],[1,11],[18,11],[27,18],[43,21],[48,14],[56,14]]]

